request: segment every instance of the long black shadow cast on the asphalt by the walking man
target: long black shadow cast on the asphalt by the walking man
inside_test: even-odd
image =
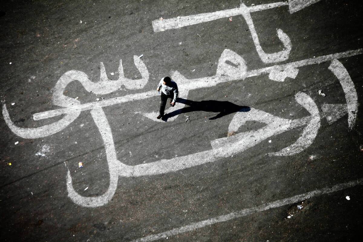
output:
[[[165,114],[162,120],[166,121],[168,118],[171,118],[173,116],[194,111],[217,112],[218,114],[216,116],[209,118],[210,120],[213,120],[221,118],[228,114],[232,114],[234,112],[248,112],[251,110],[251,108],[248,106],[239,106],[228,101],[207,100],[197,102],[188,99],[178,98],[177,102],[186,104],[189,107],[183,107],[168,114]]]

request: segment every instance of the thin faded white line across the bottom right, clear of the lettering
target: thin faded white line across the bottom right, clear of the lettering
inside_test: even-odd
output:
[[[152,234],[152,235],[148,235],[146,237],[142,237],[142,238],[138,238],[135,239],[131,242],[150,242],[150,241],[156,241],[158,239],[162,239],[162,238],[166,238],[166,237],[170,237],[176,234],[182,234],[182,233],[186,233],[188,231],[193,231],[196,229],[200,229],[203,228],[205,226],[208,225],[213,225],[216,223],[220,223],[220,222],[226,222],[229,220],[233,220],[236,218],[240,218],[240,217],[244,217],[247,216],[249,214],[253,214],[253,213],[258,213],[258,212],[262,212],[262,211],[266,211],[272,208],[279,208],[288,204],[293,204],[296,202],[300,202],[309,198],[313,198],[313,197],[317,197],[317,196],[321,196],[323,194],[329,194],[329,193],[333,193],[333,192],[337,192],[339,190],[343,190],[346,188],[351,188],[353,186],[356,185],[361,185],[363,183],[363,179],[358,179],[355,181],[349,181],[346,183],[341,183],[332,187],[325,187],[319,190],[314,190],[311,192],[307,192],[307,193],[303,193],[303,194],[299,194],[293,197],[288,197],[288,198],[284,198],[281,200],[277,200],[274,202],[270,202],[267,204],[263,204],[257,207],[253,207],[253,208],[247,208],[247,209],[242,209],[239,210],[237,212],[232,212],[229,214],[225,214],[225,215],[221,215],[221,216],[217,216],[217,217],[213,217],[213,218],[209,218],[207,220],[202,220],[200,222],[195,222],[195,223],[191,223],[189,225],[185,225],[185,226],[181,226],[179,228],[176,229],[172,229],[172,230],[168,230],[159,234]]]

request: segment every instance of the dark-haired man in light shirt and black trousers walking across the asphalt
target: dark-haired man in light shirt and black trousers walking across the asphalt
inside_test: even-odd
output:
[[[163,79],[161,79],[156,91],[160,91],[160,87],[161,102],[159,116],[156,117],[157,119],[161,119],[164,116],[165,105],[168,98],[171,98],[170,106],[172,107],[175,106],[176,98],[178,98],[178,85],[176,85],[175,82],[171,81],[170,77],[164,77]]]

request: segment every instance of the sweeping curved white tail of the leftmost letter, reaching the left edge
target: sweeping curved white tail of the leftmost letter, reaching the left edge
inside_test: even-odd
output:
[[[3,104],[3,116],[5,123],[9,126],[10,130],[16,134],[17,136],[20,136],[24,139],[37,139],[42,138],[45,136],[49,136],[52,134],[55,134],[65,127],[67,127],[70,123],[72,123],[78,115],[81,113],[81,111],[78,112],[70,112],[69,114],[65,114],[64,117],[61,120],[58,120],[57,122],[47,124],[41,127],[37,128],[21,128],[16,126],[10,118],[9,112],[6,108],[6,105]]]

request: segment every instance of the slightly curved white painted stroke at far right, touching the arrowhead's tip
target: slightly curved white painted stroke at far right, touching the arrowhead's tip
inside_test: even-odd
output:
[[[338,60],[333,60],[329,66],[334,75],[339,79],[340,85],[343,87],[345,99],[348,108],[348,127],[349,130],[355,125],[358,113],[358,95],[355,90],[354,83],[347,69]]]

